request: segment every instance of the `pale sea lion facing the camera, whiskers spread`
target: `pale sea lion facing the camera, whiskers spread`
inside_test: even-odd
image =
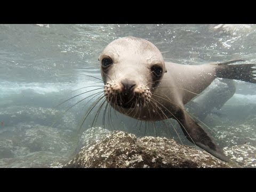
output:
[[[189,141],[229,161],[184,105],[217,77],[256,83],[254,64],[228,65],[244,60],[194,66],[165,62],[153,43],[136,37],[109,43],[99,61],[105,97],[111,107],[142,121],[174,118]]]

